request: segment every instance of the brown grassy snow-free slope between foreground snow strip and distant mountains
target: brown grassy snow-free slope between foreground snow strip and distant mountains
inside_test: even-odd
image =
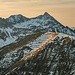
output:
[[[31,41],[34,41],[36,38],[38,38],[39,36],[41,36],[44,33],[45,32],[40,32],[40,33],[36,33],[36,34],[27,35],[24,38],[22,38],[21,40],[19,40],[18,42],[11,43],[7,46],[4,46],[3,48],[0,49],[1,50],[0,57],[2,57],[4,54],[6,54],[10,51],[13,51],[17,48],[25,46],[26,44],[28,44]]]

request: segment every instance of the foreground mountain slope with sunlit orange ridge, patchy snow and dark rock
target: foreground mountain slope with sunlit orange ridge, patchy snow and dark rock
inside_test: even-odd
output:
[[[51,34],[57,34],[56,38],[52,40],[51,38],[53,38],[54,36],[52,37]],[[47,43],[45,41],[47,41]],[[46,43],[46,45],[44,42]],[[39,47],[42,47],[42,48],[39,48]],[[37,50],[38,48],[40,50]],[[39,52],[36,52],[36,50]],[[9,75],[11,74],[12,75],[14,74],[20,74],[20,75],[23,75],[23,74],[48,75],[49,74],[50,75],[51,73],[54,73],[55,70],[58,71],[58,69],[56,68],[58,67],[57,64],[59,63],[58,62],[59,58],[61,60],[60,63],[61,64],[63,63],[62,66],[65,66],[66,68],[68,67],[69,62],[73,63],[75,58],[74,52],[75,52],[75,38],[73,36],[69,36],[63,33],[45,33],[41,37],[34,40],[33,42],[30,42],[26,46],[22,47],[19,51],[15,50],[5,54],[4,57],[1,58],[0,60],[0,63],[1,63],[0,68],[2,69],[1,71],[2,74],[10,73]],[[70,55],[69,59],[66,56],[67,53]],[[74,65],[75,64],[73,64],[73,66]],[[72,66],[72,71],[74,68],[73,66]],[[61,73],[62,72],[65,73],[66,71],[65,69],[63,70],[62,68]],[[66,71],[66,73],[68,72]],[[67,75],[67,74],[64,74],[64,75]],[[68,73],[68,75],[70,74]]]

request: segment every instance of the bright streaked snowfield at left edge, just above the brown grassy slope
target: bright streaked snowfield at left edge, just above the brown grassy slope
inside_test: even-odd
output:
[[[0,35],[0,47],[6,46],[12,42],[14,42],[16,39],[18,39],[17,36],[13,36],[14,33],[13,29],[11,28],[0,28],[1,35]]]

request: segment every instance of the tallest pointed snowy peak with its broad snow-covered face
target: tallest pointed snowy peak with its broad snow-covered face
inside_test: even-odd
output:
[[[30,30],[31,32],[52,31],[75,36],[75,32],[72,29],[60,24],[47,12],[44,13],[44,15],[40,15],[36,18],[31,18],[30,20],[22,22],[20,24],[14,24],[13,26],[19,29],[22,28]]]

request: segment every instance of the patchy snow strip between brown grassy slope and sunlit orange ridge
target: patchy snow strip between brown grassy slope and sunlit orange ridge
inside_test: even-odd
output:
[[[4,58],[0,60],[0,68],[9,67],[11,64],[13,64],[16,60],[19,58],[25,57],[29,53],[31,53],[34,49],[38,48],[46,39],[48,38],[48,33],[45,33],[41,35],[41,37],[37,38],[33,42],[26,45],[26,47],[29,47],[30,49],[23,49],[21,48],[21,51],[18,52],[16,49],[15,51],[11,51],[4,55]]]

